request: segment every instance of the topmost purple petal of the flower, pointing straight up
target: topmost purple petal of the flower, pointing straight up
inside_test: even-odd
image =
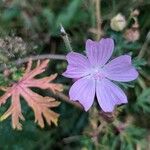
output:
[[[111,38],[101,39],[99,42],[87,40],[86,53],[92,65],[103,66],[111,57],[114,41]]]

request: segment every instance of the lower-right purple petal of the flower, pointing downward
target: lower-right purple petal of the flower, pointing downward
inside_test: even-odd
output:
[[[108,79],[97,81],[96,95],[103,111],[112,112],[115,105],[127,103],[125,93]]]

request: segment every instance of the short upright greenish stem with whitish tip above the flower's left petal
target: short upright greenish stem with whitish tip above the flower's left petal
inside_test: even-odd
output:
[[[72,47],[71,47],[71,44],[70,44],[68,34],[66,33],[66,31],[65,31],[64,27],[62,26],[62,24],[60,25],[60,32],[61,32],[61,35],[62,35],[62,39],[65,43],[66,49],[72,52],[73,50],[72,50]]]

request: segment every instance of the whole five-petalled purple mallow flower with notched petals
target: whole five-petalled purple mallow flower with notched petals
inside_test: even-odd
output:
[[[90,109],[95,96],[104,112],[112,112],[116,105],[127,103],[127,96],[113,81],[135,80],[138,72],[129,55],[109,61],[113,49],[114,41],[111,38],[103,38],[99,42],[89,39],[86,41],[86,56],[76,52],[66,56],[68,66],[63,75],[78,79],[70,88],[70,99],[79,101],[85,111]]]

